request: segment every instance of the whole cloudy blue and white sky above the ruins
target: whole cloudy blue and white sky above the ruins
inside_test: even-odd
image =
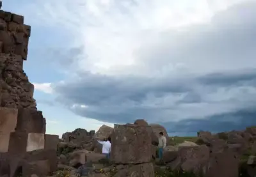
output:
[[[143,118],[170,135],[256,125],[255,0],[3,0],[47,133]]]

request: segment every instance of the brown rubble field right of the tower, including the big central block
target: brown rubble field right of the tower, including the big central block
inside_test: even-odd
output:
[[[70,148],[61,153],[58,161],[59,176],[255,176],[256,128],[244,131],[198,132],[194,142],[175,144],[170,137],[164,149],[163,162],[157,158],[157,132],[166,132],[161,125],[138,124],[102,126],[96,134],[108,132],[113,139],[111,160],[106,160],[92,146]],[[108,131],[106,131],[108,129]],[[111,130],[112,129],[112,130]],[[111,133],[112,132],[112,133]],[[104,133],[105,134],[105,133]],[[124,140],[124,137],[126,141]],[[100,138],[104,138],[100,136]],[[95,137],[92,137],[91,142]],[[70,142],[60,142],[58,150]],[[69,144],[69,145],[68,145]],[[172,144],[172,145],[170,145]],[[86,158],[84,158],[84,156]],[[81,163],[81,159],[85,159]],[[61,174],[64,173],[64,174]]]

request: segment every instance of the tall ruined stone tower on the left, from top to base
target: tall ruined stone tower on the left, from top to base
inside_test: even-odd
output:
[[[0,176],[40,177],[57,167],[58,135],[45,134],[45,118],[23,70],[30,33],[24,17],[0,10]]]

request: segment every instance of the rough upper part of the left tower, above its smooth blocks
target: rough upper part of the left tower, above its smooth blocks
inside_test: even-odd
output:
[[[24,17],[0,10],[1,107],[36,109],[34,86],[23,70],[30,33]]]

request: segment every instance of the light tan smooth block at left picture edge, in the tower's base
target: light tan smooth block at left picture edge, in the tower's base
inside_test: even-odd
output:
[[[17,109],[0,107],[0,132],[14,132],[17,125],[17,117]]]

